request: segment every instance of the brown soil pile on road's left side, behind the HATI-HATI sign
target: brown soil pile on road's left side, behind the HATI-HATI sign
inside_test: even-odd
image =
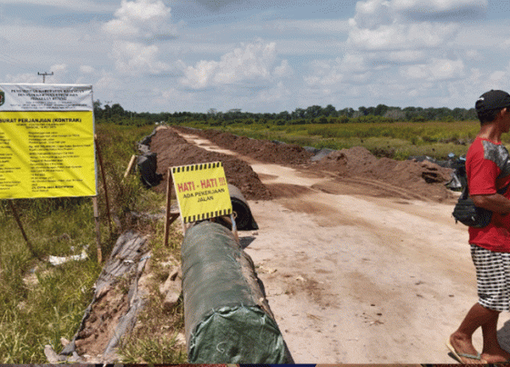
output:
[[[247,200],[270,200],[270,191],[260,182],[259,176],[247,164],[228,154],[205,151],[190,145],[176,132],[159,128],[150,142],[150,151],[158,154],[158,174],[163,181],[154,189],[165,193],[167,190],[168,167],[222,162],[227,181],[240,189]]]

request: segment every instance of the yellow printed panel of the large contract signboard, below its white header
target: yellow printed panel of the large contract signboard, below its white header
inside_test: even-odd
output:
[[[96,195],[92,111],[0,112],[0,199]]]

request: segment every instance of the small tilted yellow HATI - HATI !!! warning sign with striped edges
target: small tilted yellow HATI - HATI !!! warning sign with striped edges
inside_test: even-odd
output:
[[[184,223],[232,213],[229,186],[221,162],[172,167],[174,187]]]

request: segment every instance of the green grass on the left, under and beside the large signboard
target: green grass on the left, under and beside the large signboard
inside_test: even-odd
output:
[[[99,177],[100,236],[106,261],[120,231],[135,227],[148,233],[162,230],[154,223],[133,223],[128,213],[156,213],[163,195],[148,191],[138,179],[124,173],[137,142],[153,126],[97,124],[97,141],[107,176],[112,232],[106,215],[105,187]],[[7,201],[0,201],[0,363],[45,363],[44,346],[62,350],[60,338],[77,331],[92,289],[101,272],[97,263],[96,230],[90,198],[15,200],[29,246],[15,222]],[[160,234],[150,239],[157,246]],[[176,244],[177,246],[177,244]],[[49,264],[47,256],[67,256],[87,251],[86,261]],[[171,250],[175,251],[175,249]],[[176,357],[178,358],[178,357]],[[180,357],[179,357],[180,358]],[[179,360],[180,361],[180,360]],[[172,362],[171,360],[165,362]]]

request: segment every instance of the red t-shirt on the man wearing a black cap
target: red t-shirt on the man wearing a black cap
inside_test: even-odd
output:
[[[503,144],[476,138],[465,160],[471,195],[493,194],[510,183],[509,154]],[[510,199],[510,188],[504,195]],[[497,253],[510,253],[510,214],[493,213],[486,227],[469,227],[469,243]]]

